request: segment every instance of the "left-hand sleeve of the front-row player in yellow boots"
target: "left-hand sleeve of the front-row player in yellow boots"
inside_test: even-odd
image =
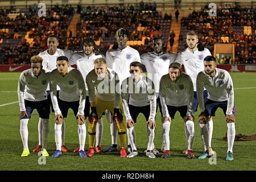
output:
[[[19,100],[19,108],[20,111],[25,111],[25,102],[24,102],[24,90],[25,90],[26,80],[23,72],[20,74],[19,82],[18,82],[18,100]]]

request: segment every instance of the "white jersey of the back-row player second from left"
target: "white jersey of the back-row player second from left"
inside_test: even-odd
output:
[[[88,86],[86,84],[86,76],[88,75],[88,73],[90,71],[92,71],[92,69],[94,69],[94,60],[96,60],[98,58],[105,59],[105,56],[95,55],[93,53],[93,55],[88,57],[85,55],[84,52],[77,52],[77,53],[73,53],[73,55],[69,59],[69,64],[70,65],[76,64],[77,69],[82,73],[82,77],[84,78],[84,82],[85,82],[86,96],[89,96]]]

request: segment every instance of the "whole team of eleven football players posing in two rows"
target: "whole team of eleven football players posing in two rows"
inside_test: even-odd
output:
[[[233,81],[227,71],[217,68],[216,59],[209,50],[198,43],[196,32],[187,32],[188,48],[178,54],[164,52],[162,38],[155,37],[152,40],[154,52],[140,56],[137,50],[126,45],[130,34],[125,28],[120,28],[115,38],[117,45],[109,49],[105,57],[94,54],[96,44],[92,38],[83,40],[83,51],[72,52],[58,49],[59,38],[49,35],[48,49],[31,57],[31,69],[23,71],[18,82],[20,135],[23,143],[21,156],[30,154],[27,125],[35,109],[39,114],[39,142],[33,152],[41,151],[42,156],[49,156],[46,149],[51,111],[55,113],[56,143],[56,151],[51,156],[58,158],[63,152],[68,152],[64,144],[65,119],[68,110],[72,109],[79,135],[79,147],[74,152],[78,152],[81,158],[91,158],[94,147],[96,153],[117,151],[117,136],[121,143],[120,157],[137,156],[135,123],[139,113],[147,121],[148,144],[144,152],[148,158],[155,158],[159,154],[154,145],[155,114],[159,107],[163,138],[161,158],[171,156],[170,125],[177,111],[184,120],[187,138],[183,154],[188,159],[196,158],[192,150],[195,140],[194,113],[200,109],[198,121],[204,152],[199,159],[206,159],[215,153],[211,146],[212,117],[220,107],[226,115],[228,126],[226,160],[233,160],[236,135]],[[77,69],[70,65],[76,65]],[[148,76],[142,74],[143,65]],[[181,65],[184,65],[185,73],[182,73]],[[101,148],[102,114],[110,122],[112,136],[112,144],[105,150]],[[89,121],[87,154],[86,118]],[[126,148],[130,152],[128,155]]]

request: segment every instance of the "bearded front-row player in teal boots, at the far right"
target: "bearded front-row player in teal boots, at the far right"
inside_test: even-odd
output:
[[[226,115],[226,125],[228,126],[228,154],[226,160],[233,160],[233,144],[236,136],[235,129],[235,108],[234,108],[234,88],[233,81],[229,73],[224,69],[216,67],[216,59],[213,56],[207,56],[204,59],[204,71],[200,72],[196,80],[197,94],[201,114],[199,123],[201,128],[201,138],[208,150],[199,159],[205,159],[209,154],[209,131],[207,122],[212,121],[216,110],[220,107]],[[207,89],[208,99],[204,103],[203,90]]]

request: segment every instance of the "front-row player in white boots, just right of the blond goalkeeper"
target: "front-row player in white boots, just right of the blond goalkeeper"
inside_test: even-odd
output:
[[[126,117],[127,136],[132,151],[127,158],[138,155],[135,141],[135,123],[139,113],[143,113],[147,121],[148,144],[146,155],[155,158],[153,154],[155,138],[156,97],[155,86],[150,78],[142,75],[142,64],[135,61],[130,64],[131,76],[123,80],[121,96]],[[128,94],[130,98],[128,101]]]

